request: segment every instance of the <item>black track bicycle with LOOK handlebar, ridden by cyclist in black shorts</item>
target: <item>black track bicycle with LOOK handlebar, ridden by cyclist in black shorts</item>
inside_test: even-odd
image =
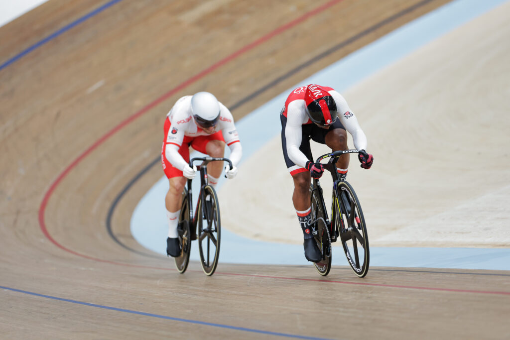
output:
[[[354,189],[346,180],[339,179],[336,168],[338,158],[345,153],[368,155],[364,150],[340,150],[323,154],[315,161],[318,164],[329,158],[329,161],[322,165],[333,177],[333,193],[331,193],[331,219],[329,219],[319,179],[312,178],[310,185],[312,213],[317,227],[314,238],[322,252],[322,259],[314,263],[314,266],[322,276],[329,273],[331,243],[340,239],[352,271],[357,276],[364,277],[367,275],[370,260],[365,218]]]

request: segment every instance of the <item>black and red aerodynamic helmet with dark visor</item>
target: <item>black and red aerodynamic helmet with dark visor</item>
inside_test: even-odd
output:
[[[308,117],[319,126],[328,126],[338,117],[337,104],[333,97],[319,85],[307,86],[304,95]]]

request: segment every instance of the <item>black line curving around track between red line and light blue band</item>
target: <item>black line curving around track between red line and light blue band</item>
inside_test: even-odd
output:
[[[277,77],[275,80],[273,80],[272,82],[270,82],[269,84],[263,86],[262,88],[258,89],[257,91],[253,92],[252,94],[244,97],[243,99],[239,100],[238,102],[236,102],[235,104],[233,104],[231,107],[230,107],[230,110],[231,111],[234,111],[236,109],[238,109],[239,107],[241,107],[243,104],[245,104],[246,102],[256,98],[258,95],[260,95],[261,93],[265,92],[266,90],[270,89],[271,87],[274,87],[276,86],[277,84],[281,83],[282,81],[284,81],[285,79],[289,78],[290,76],[292,76],[294,73],[298,72],[299,70],[303,69],[304,67],[308,67],[312,64],[314,64],[315,62],[329,56],[330,54],[334,53],[335,51],[345,47],[345,46],[348,46],[349,44],[365,37],[366,35],[376,31],[377,29],[383,27],[384,25],[388,24],[388,23],[391,23],[392,21],[404,16],[405,14],[408,14],[430,2],[432,2],[433,0],[424,0],[424,1],[421,1],[413,6],[410,6],[382,21],[379,21],[378,23],[372,25],[371,27],[369,27],[368,29],[340,42],[339,44],[327,49],[326,51],[324,51],[323,53],[319,54],[318,56],[314,57],[313,59],[307,61],[307,62],[304,62],[302,64],[300,64],[299,66],[293,68],[292,70],[290,70],[289,72]],[[120,245],[122,248],[125,248],[131,252],[134,252],[134,253],[137,253],[139,255],[142,255],[142,256],[146,256],[146,257],[152,257],[152,258],[159,258],[161,259],[161,256],[156,256],[156,255],[152,255],[152,254],[147,254],[147,253],[144,253],[144,252],[140,252],[136,249],[133,249],[129,246],[126,246],[125,244],[123,244],[122,242],[120,242],[119,239],[117,239],[117,237],[115,237],[113,231],[112,231],[112,224],[111,224],[111,220],[112,220],[112,216],[113,216],[113,213],[114,213],[114,210],[117,206],[117,204],[119,203],[119,201],[122,199],[122,196],[124,196],[124,194],[129,190],[131,189],[131,187],[135,184],[135,182],[140,179],[146,172],[148,172],[150,170],[150,168],[152,168],[153,166],[155,166],[156,164],[159,163],[159,160],[160,160],[161,156],[157,156],[156,159],[154,159],[153,161],[151,161],[149,163],[149,165],[147,165],[144,169],[142,169],[142,171],[140,171],[131,181],[128,182],[128,184],[124,187],[124,189],[122,189],[122,191],[117,195],[117,197],[115,197],[112,205],[110,206],[110,209],[108,211],[108,216],[106,218],[106,228],[108,230],[108,234],[110,235],[110,237],[112,238],[113,241],[115,241],[115,243],[117,243],[118,245]],[[339,268],[341,269],[341,268]],[[371,269],[371,271],[388,271],[388,272],[411,272],[411,273],[433,273],[433,274],[465,274],[465,275],[488,275],[488,276],[510,276],[510,274],[492,274],[492,273],[460,273],[460,272],[443,272],[443,271],[427,271],[427,270],[402,270],[402,269]]]

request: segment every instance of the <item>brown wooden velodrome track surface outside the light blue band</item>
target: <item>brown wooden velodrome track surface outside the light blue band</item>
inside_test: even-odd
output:
[[[239,119],[446,2],[50,0],[0,28],[5,63],[72,26],[0,68],[0,338],[510,337],[509,272],[181,275],[130,234],[177,98]]]

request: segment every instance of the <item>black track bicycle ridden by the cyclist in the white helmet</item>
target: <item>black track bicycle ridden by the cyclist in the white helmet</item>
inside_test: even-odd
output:
[[[181,205],[181,214],[177,224],[177,233],[181,244],[181,255],[174,257],[175,266],[180,273],[184,273],[188,268],[191,252],[191,241],[198,240],[198,249],[200,252],[200,264],[206,275],[213,275],[218,265],[221,240],[221,221],[218,196],[212,186],[207,181],[207,164],[214,161],[225,161],[233,168],[232,162],[227,158],[193,158],[189,166],[193,167],[194,162],[202,163],[197,165],[200,172],[200,192],[193,215],[192,197],[191,197],[191,179],[188,179],[187,187],[184,190],[183,203]],[[196,230],[198,229],[198,235]]]

